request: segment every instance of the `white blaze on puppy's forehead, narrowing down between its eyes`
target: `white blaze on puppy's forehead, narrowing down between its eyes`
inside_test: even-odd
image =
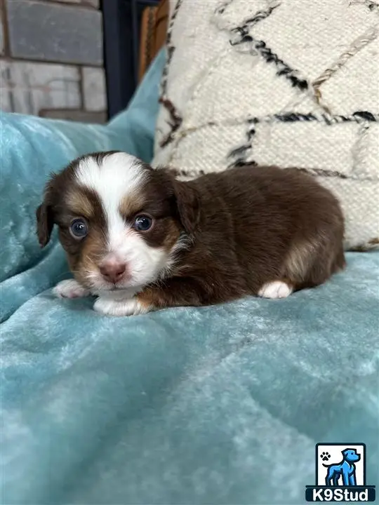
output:
[[[109,250],[117,250],[123,241],[126,223],[119,206],[123,198],[138,194],[146,169],[140,160],[126,153],[109,154],[96,161],[88,156],[79,162],[77,182],[98,194],[107,220]]]

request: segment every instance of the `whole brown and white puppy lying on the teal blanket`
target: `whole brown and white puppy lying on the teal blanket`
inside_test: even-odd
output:
[[[98,295],[112,316],[284,298],[345,265],[338,202],[296,169],[180,182],[125,153],[91,154],[53,175],[36,215],[42,246],[58,225],[75,278],[55,294]]]

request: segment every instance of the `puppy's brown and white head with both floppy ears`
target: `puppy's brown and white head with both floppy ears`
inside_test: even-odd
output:
[[[53,175],[36,210],[37,234],[44,247],[58,225],[75,278],[93,292],[142,288],[171,266],[198,215],[197,194],[167,170],[98,153]]]

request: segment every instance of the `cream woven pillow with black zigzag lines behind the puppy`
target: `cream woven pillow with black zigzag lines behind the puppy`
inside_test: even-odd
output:
[[[295,166],[379,244],[378,0],[171,2],[154,165]],[[248,170],[248,168],[246,168]]]

